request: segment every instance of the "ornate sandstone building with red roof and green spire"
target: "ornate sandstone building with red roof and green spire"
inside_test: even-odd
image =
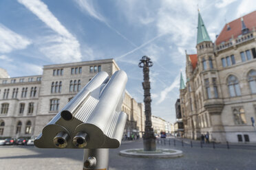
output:
[[[256,143],[255,19],[256,11],[227,23],[213,43],[198,14],[197,53],[186,54],[180,85],[186,138],[209,132],[215,142]]]

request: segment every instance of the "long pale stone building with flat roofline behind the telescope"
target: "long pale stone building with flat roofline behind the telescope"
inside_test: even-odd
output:
[[[0,78],[0,138],[38,136],[43,127],[99,71],[119,70],[113,59],[43,66],[43,75]],[[142,132],[143,105],[126,91],[122,104],[127,130]],[[132,127],[130,127],[132,124]]]

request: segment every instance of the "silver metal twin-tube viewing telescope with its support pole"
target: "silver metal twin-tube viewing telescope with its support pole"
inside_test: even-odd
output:
[[[108,169],[109,148],[122,141],[127,114],[121,112],[127,75],[101,71],[43,127],[40,148],[85,149],[83,169]]]

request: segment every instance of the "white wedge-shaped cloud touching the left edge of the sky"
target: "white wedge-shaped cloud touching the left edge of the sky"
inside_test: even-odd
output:
[[[12,32],[4,25],[0,24],[0,52],[10,53],[15,49],[25,49],[31,41],[28,38],[20,36],[19,34]]]

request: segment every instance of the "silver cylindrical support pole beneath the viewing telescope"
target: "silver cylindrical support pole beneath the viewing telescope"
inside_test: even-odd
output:
[[[85,149],[83,156],[83,170],[108,170],[109,149]]]

